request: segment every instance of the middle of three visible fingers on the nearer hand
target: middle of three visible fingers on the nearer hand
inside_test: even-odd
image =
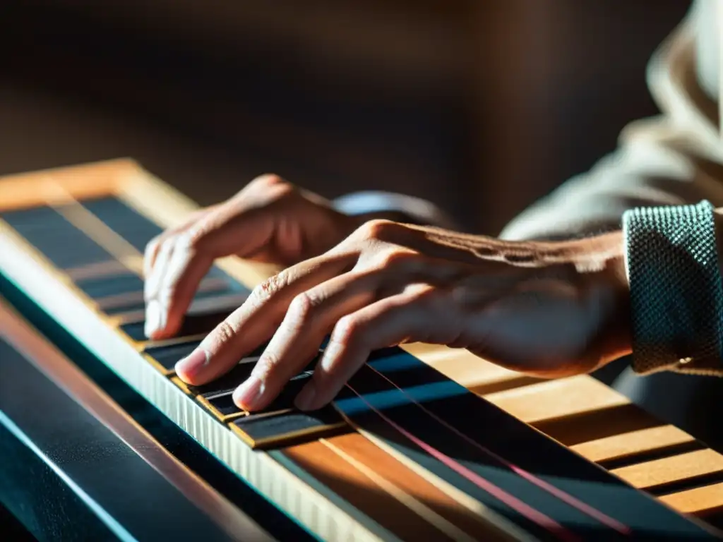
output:
[[[345,314],[376,301],[382,278],[379,272],[348,272],[304,291],[291,301],[249,380],[234,392],[234,402],[244,410],[261,410],[286,383],[317,355],[325,335]],[[253,390],[254,379],[263,383]]]

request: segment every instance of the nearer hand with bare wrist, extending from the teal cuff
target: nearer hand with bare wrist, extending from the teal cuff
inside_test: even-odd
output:
[[[320,408],[378,348],[467,348],[542,377],[590,371],[630,350],[623,237],[509,243],[371,221],[337,246],[280,272],[176,364],[189,384],[230,370],[270,339],[234,392],[259,410],[330,340],[296,397]]]

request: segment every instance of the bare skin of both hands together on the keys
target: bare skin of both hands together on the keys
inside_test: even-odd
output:
[[[201,210],[146,251],[147,334],[173,335],[200,278],[227,254],[287,266],[176,364],[204,384],[270,341],[234,402],[260,410],[330,336],[302,410],[327,404],[372,350],[466,348],[539,377],[588,372],[630,352],[623,236],[508,242],[350,218],[275,176]]]

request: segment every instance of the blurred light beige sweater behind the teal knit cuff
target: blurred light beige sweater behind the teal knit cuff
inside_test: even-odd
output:
[[[630,207],[701,199],[723,207],[719,22],[723,0],[696,0],[649,62],[648,86],[661,115],[626,126],[615,152],[523,212],[501,236],[557,238],[617,229]]]

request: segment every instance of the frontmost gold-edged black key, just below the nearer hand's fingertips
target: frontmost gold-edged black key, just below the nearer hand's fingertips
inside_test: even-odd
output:
[[[346,428],[331,406],[312,412],[292,410],[278,414],[252,414],[237,418],[231,427],[252,448],[281,447],[299,439],[319,439]]]

